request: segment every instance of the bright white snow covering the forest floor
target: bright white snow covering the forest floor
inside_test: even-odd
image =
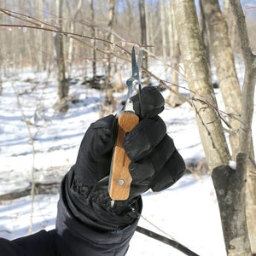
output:
[[[155,72],[158,70],[154,68]],[[103,98],[99,90],[73,84],[70,95],[79,102],[71,103],[67,114],[61,115],[53,109],[54,80],[47,79],[45,73],[15,72],[11,77],[3,78],[3,96],[0,96],[0,195],[26,188],[30,183],[32,145],[17,107],[15,91],[29,91],[35,84],[37,87],[31,93],[20,95],[20,105],[32,124],[29,127],[36,150],[36,181],[60,181],[76,160],[84,131],[99,118]],[[183,92],[188,93],[186,90]],[[162,93],[168,96],[167,90]],[[219,106],[224,109],[219,91],[216,90],[216,93]],[[122,93],[115,96],[119,100],[124,98]],[[195,113],[189,104],[184,103],[179,108],[166,106],[161,117],[166,121],[168,134],[174,139],[183,158],[187,161],[204,160]],[[256,131],[255,126],[254,119],[253,131]],[[59,171],[60,166],[62,171]],[[36,195],[33,232],[55,227],[57,201],[58,195]],[[210,177],[197,179],[192,174],[186,174],[164,192],[143,195],[143,204],[141,226],[170,236],[199,255],[225,255],[218,203]],[[29,224],[29,196],[14,201],[1,201],[0,198],[0,236],[8,239],[26,236]],[[136,233],[128,255],[178,256],[183,253]]]

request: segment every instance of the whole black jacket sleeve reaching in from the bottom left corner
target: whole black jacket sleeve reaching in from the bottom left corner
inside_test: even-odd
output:
[[[104,198],[99,199],[96,195],[85,196],[81,191],[84,190],[78,189],[78,185],[74,184],[72,169],[61,183],[55,230],[41,230],[32,236],[13,241],[0,238],[0,255],[125,255],[137,227],[137,214],[108,212],[109,209],[106,210],[101,205]],[[136,212],[140,213],[140,197],[135,205]],[[117,220],[123,217],[125,222],[117,225]],[[112,220],[114,225],[108,224],[108,220]]]

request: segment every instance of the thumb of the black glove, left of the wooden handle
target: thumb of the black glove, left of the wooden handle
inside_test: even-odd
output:
[[[80,144],[75,164],[76,177],[87,186],[108,176],[113,145],[116,137],[117,119],[111,114],[91,124]]]

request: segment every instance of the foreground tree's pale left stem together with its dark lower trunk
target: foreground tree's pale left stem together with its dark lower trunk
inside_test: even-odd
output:
[[[218,196],[226,251],[228,255],[248,255],[250,247],[247,237],[244,175],[238,171],[239,167],[235,171],[228,166],[230,153],[221,121],[216,111],[208,108],[209,104],[213,108],[218,107],[202,45],[195,2],[174,0],[173,8],[189,89],[193,90],[197,99],[200,100],[198,102],[195,99],[194,103],[196,119],[207,164],[213,170],[212,180]],[[207,105],[201,101],[207,101]],[[237,164],[240,163],[239,160]]]

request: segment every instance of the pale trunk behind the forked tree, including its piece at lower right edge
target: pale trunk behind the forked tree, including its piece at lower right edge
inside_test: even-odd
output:
[[[230,44],[228,34],[228,26],[222,15],[218,1],[201,0],[204,9],[207,26],[210,32],[210,40],[212,43],[212,54],[214,55],[218,84],[224,99],[226,111],[234,115],[229,117],[232,131],[230,134],[230,146],[232,149],[232,158],[236,160],[239,152],[239,136],[238,131],[241,125],[241,90],[236,75],[236,67],[234,55]],[[225,5],[226,8],[229,5]],[[251,154],[253,155],[253,144],[251,144]],[[249,162],[248,174],[253,171],[254,167]],[[251,237],[254,238],[253,251],[256,251],[256,179],[251,175],[247,175],[247,216],[248,229]],[[251,239],[251,241],[253,241]]]

